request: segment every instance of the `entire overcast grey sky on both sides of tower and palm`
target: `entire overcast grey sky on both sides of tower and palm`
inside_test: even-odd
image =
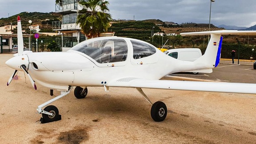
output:
[[[209,23],[210,0],[108,0],[113,19]],[[55,0],[0,0],[0,18],[20,12],[55,12]],[[134,17],[133,17],[134,16]],[[256,0],[212,2],[211,24],[256,24]]]

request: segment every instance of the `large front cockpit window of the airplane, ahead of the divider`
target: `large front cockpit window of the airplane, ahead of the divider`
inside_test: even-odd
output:
[[[121,39],[96,40],[79,46],[72,50],[83,52],[98,63],[120,62],[127,58],[128,46]]]

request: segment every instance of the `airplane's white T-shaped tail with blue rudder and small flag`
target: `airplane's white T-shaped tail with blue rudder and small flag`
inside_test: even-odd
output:
[[[256,34],[256,31],[236,31],[236,30],[220,30],[207,32],[186,32],[180,33],[181,36],[193,35],[211,35],[206,51],[203,56],[194,61],[194,70],[209,70],[215,68],[220,62],[220,52],[222,45],[221,35],[239,35],[239,34]]]

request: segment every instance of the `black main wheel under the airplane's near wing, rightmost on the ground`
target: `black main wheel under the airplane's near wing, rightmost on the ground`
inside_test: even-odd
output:
[[[159,122],[159,121],[163,121],[166,116],[167,116],[166,105],[161,101],[155,102],[151,107],[152,119]]]

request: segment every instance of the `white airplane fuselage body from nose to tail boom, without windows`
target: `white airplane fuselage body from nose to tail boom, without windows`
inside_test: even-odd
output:
[[[17,59],[21,62],[10,66],[10,61]],[[31,52],[15,56],[6,64],[20,70],[24,61],[36,84],[57,90],[67,90],[69,85],[108,86],[112,80],[127,77],[159,80],[194,67],[193,63],[167,56],[144,41],[120,37],[86,40],[68,52]]]

